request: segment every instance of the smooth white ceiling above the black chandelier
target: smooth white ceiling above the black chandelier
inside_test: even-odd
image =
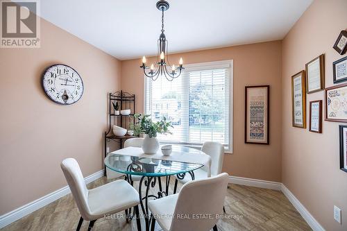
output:
[[[281,40],[313,0],[169,0],[169,52]],[[157,0],[44,0],[40,15],[110,55],[155,55]]]

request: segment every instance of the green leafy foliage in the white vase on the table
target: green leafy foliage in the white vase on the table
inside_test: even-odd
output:
[[[134,135],[147,134],[150,138],[157,137],[157,133],[171,134],[169,128],[174,128],[171,122],[162,117],[160,121],[153,122],[149,114],[135,114],[135,121],[130,121],[129,130],[134,131]]]

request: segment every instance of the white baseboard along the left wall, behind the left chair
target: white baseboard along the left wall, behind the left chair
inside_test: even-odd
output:
[[[89,184],[90,182],[99,179],[102,176],[103,170],[97,171],[96,173],[93,173],[92,175],[87,176],[85,178],[85,184]],[[22,217],[31,214],[37,209],[40,209],[45,205],[48,205],[49,203],[52,203],[53,201],[58,200],[59,198],[62,198],[63,196],[69,193],[69,186],[65,186],[61,189],[51,192],[50,194],[47,194],[46,196],[42,196],[42,198],[38,198],[37,200],[34,200],[31,203],[28,203],[26,205],[23,205],[22,207],[12,210],[7,214],[3,214],[2,216],[0,216],[0,228],[3,228],[14,221],[17,221],[18,219],[21,219]]]

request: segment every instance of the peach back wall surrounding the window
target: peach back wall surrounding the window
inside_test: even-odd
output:
[[[154,48],[153,48],[154,49]],[[234,60],[233,154],[224,157],[223,171],[232,176],[281,181],[281,42],[264,42],[171,55],[186,64]],[[144,110],[141,59],[122,61],[122,89],[136,94],[137,112]],[[148,63],[153,62],[153,58]],[[244,144],[244,87],[271,85],[270,145]]]

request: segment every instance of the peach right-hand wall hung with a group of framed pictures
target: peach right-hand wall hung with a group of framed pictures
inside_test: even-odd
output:
[[[323,134],[291,126],[291,76],[325,53],[325,87],[332,83],[332,62],[342,58],[332,45],[347,27],[347,1],[316,0],[282,42],[282,181],[326,230],[347,230],[347,173],[339,170],[341,123],[323,121]],[[345,55],[346,56],[346,55]],[[323,91],[307,94],[323,100]],[[333,206],[342,211],[342,225]]]

